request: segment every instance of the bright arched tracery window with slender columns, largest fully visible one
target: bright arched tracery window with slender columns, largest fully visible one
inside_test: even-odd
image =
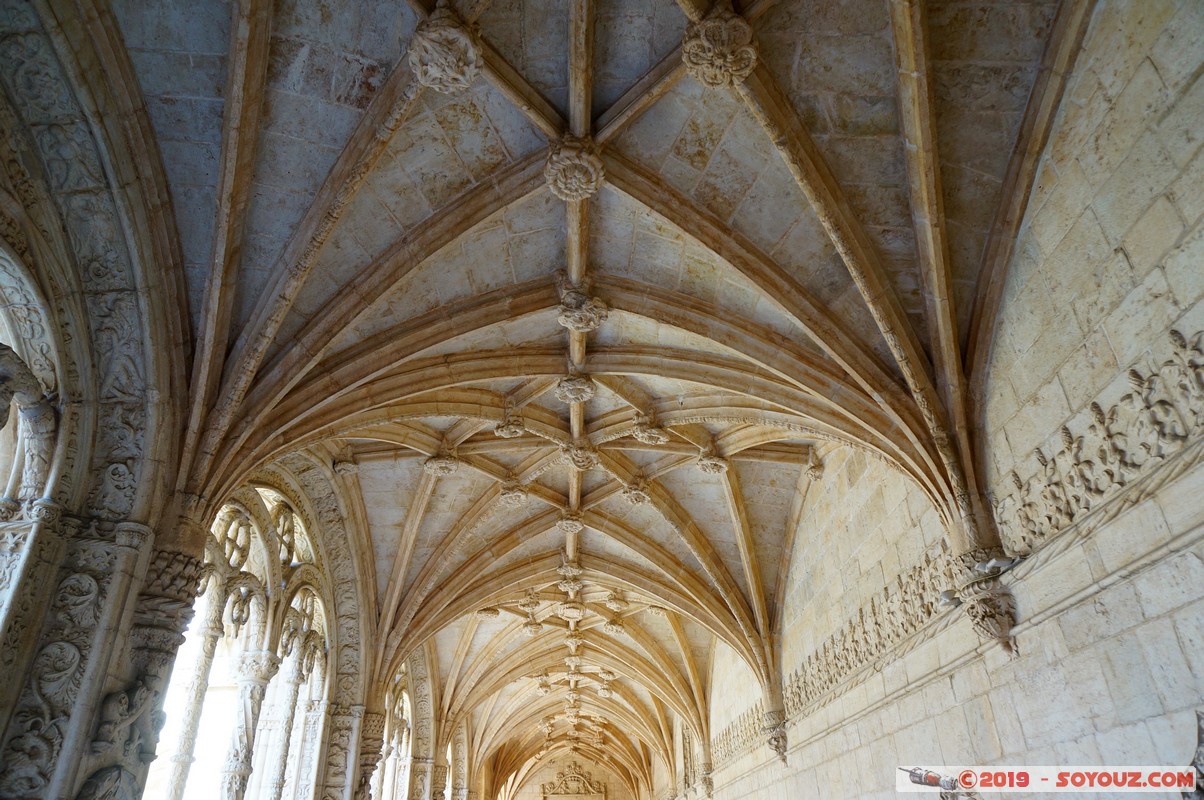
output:
[[[167,690],[147,796],[308,800],[326,717],[326,593],[279,493],[244,492],[206,546],[197,613]]]

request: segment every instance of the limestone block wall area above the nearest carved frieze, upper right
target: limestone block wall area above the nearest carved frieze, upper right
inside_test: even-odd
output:
[[[1204,6],[1103,0],[1008,271],[986,376],[987,486],[1043,469],[1062,428],[1204,330]],[[1005,531],[1015,536],[1015,531]]]

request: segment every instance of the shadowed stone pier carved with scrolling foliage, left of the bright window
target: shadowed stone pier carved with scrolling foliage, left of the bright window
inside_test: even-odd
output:
[[[142,673],[128,688],[104,695],[150,530],[131,522],[78,517],[65,518],[63,525],[67,534],[63,563],[48,573],[55,576],[48,601],[33,610],[42,619],[40,639],[29,640],[29,672],[10,681],[19,695],[0,749],[5,798],[73,796],[79,776],[89,772],[88,781],[99,776],[134,793],[141,778],[131,770],[153,758],[148,712],[157,708],[170,658],[157,658],[140,667]],[[146,652],[170,649],[173,640],[169,640],[144,641]]]

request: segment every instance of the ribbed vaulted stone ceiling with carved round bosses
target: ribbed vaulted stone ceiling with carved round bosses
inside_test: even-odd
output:
[[[576,747],[647,789],[716,647],[780,681],[831,448],[964,522],[1057,2],[113,6],[187,270],[181,488],[354,464],[377,680],[430,647],[503,778]]]

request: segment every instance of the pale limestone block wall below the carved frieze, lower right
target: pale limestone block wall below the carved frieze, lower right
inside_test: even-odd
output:
[[[940,612],[903,655],[792,717],[787,765],[757,742],[716,770],[715,798],[885,800],[898,765],[1190,764],[1204,710],[1202,492],[1197,466],[1014,570],[1019,657]]]

